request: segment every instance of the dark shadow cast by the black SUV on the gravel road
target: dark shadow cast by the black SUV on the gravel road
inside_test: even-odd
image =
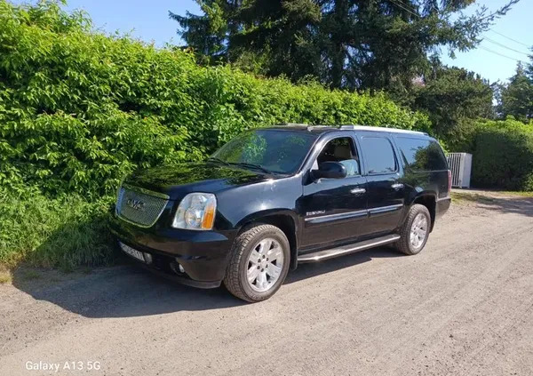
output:
[[[400,256],[380,247],[320,263],[302,264],[289,272],[285,284],[294,284],[376,258]],[[152,316],[247,304],[236,299],[224,287],[201,290],[176,284],[127,261],[123,266],[96,268],[87,274],[19,268],[13,273],[12,284],[36,300],[91,318]]]

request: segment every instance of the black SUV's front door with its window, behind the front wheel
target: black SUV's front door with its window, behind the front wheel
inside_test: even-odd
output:
[[[298,211],[304,217],[302,248],[320,248],[359,236],[367,217],[367,182],[361,174],[359,154],[352,137],[329,140],[314,161],[344,164],[346,178],[307,180]]]

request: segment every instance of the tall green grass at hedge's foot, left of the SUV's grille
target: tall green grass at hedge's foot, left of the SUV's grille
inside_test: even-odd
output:
[[[115,251],[107,230],[111,201],[0,190],[0,266],[69,271],[113,264]]]

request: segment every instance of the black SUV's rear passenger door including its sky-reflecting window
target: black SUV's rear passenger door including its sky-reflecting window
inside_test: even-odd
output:
[[[405,187],[390,135],[362,132],[358,135],[367,178],[369,219],[361,229],[363,236],[389,233],[402,220]]]

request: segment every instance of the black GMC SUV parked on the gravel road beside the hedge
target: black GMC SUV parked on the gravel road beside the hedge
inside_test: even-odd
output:
[[[423,132],[285,125],[244,132],[205,162],[123,181],[123,252],[183,284],[266,300],[289,269],[383,244],[416,254],[449,208],[450,173]]]

